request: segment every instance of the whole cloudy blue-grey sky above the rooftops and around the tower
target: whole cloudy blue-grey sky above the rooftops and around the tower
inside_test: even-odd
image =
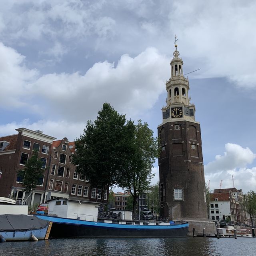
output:
[[[210,190],[256,190],[255,13],[250,0],[0,0],[0,136],[74,141],[104,102],[157,136],[176,34],[184,73],[200,68],[189,94]]]

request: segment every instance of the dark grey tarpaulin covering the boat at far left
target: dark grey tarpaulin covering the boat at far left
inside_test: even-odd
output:
[[[49,224],[48,220],[41,220],[36,216],[23,214],[0,215],[0,231],[26,231],[44,228]]]

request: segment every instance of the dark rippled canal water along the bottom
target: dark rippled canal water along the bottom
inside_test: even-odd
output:
[[[74,238],[0,243],[1,256],[255,256],[256,238]]]

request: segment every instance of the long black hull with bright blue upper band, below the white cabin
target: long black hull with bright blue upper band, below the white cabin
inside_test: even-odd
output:
[[[188,233],[188,223],[170,222],[93,222],[38,215],[42,220],[52,222],[50,236],[63,237],[184,237]],[[128,224],[127,224],[128,223]]]

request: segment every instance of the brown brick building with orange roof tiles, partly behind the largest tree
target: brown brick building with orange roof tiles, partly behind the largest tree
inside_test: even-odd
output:
[[[91,188],[87,178],[78,174],[75,170],[76,166],[71,163],[74,152],[74,142],[69,142],[67,138],[53,141],[46,198],[100,200],[100,190]],[[107,200],[107,197],[108,192],[106,191],[104,200]]]

